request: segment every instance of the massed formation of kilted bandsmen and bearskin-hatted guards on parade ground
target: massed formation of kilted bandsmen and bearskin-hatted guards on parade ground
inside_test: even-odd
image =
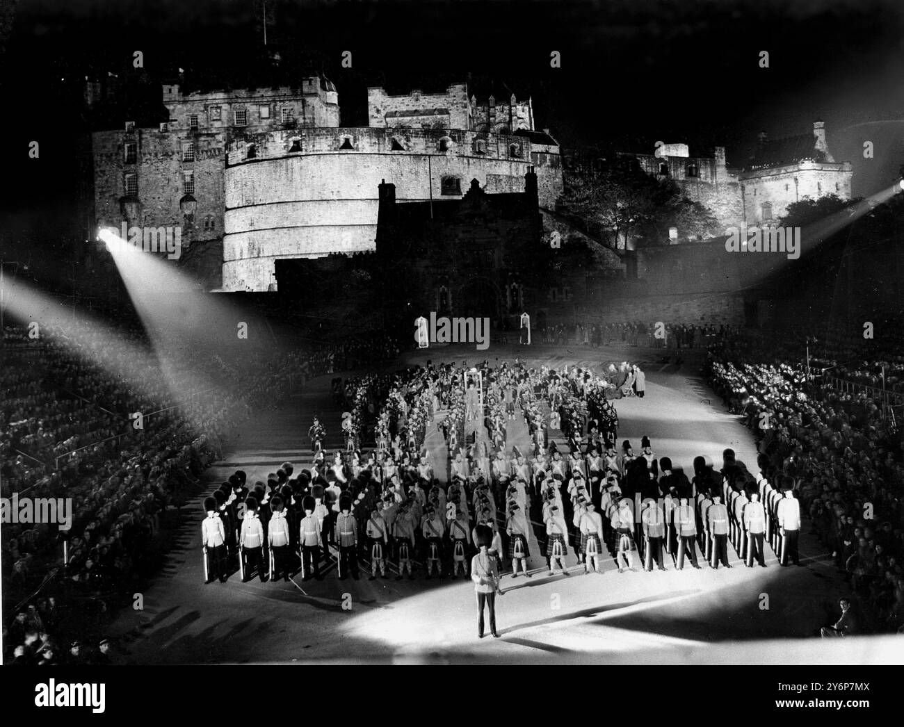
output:
[[[727,449],[719,470],[697,457],[689,480],[669,457],[657,458],[646,436],[639,452],[628,441],[617,448],[611,401],[636,393],[637,371],[428,363],[381,386],[359,382],[346,451],[328,459],[315,420],[310,467],[296,475],[285,462],[253,485],[236,471],[204,499],[205,581],[225,581],[236,565],[242,581],[299,571],[321,580],[335,563],[341,580],[360,578],[362,565],[371,580],[469,576],[479,596],[491,581],[499,592],[500,573],[532,577],[534,539],[549,575],[570,575],[570,548],[583,573],[602,573],[606,553],[619,573],[637,564],[665,570],[664,554],[679,570],[687,560],[700,568],[698,549],[712,568],[731,567],[729,544],[749,567],[765,567],[766,543],[781,564],[798,564],[791,478],[754,476]],[[373,396],[386,396],[383,405]],[[447,486],[425,448],[436,412],[454,452],[438,463]],[[507,445],[519,416],[531,436],[526,452]],[[551,429],[562,432],[560,443]],[[368,431],[376,447],[362,452]],[[475,577],[477,561],[495,577]]]

